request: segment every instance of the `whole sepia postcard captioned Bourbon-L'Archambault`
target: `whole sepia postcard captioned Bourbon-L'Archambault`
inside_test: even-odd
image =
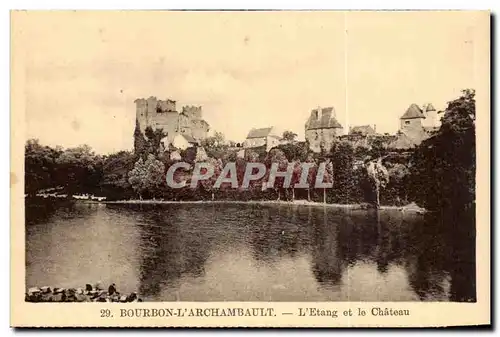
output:
[[[488,11],[12,11],[11,325],[489,325]]]

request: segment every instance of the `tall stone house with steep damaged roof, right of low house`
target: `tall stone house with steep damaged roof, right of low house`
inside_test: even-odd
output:
[[[314,152],[321,152],[322,148],[329,151],[342,132],[333,107],[313,109],[305,124],[305,137]]]

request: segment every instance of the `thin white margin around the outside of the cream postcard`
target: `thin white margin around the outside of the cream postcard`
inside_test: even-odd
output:
[[[333,6],[335,4],[335,6]],[[138,7],[140,5],[140,7]],[[287,9],[287,10],[293,10],[293,9],[300,9],[300,10],[324,10],[324,9],[330,9],[330,10],[363,10],[363,9],[371,9],[371,10],[405,10],[405,9],[414,9],[414,10],[446,10],[446,9],[464,9],[464,10],[484,10],[484,9],[490,9],[494,14],[498,14],[498,7],[499,7],[499,2],[498,1],[493,1],[493,0],[474,0],[474,1],[437,1],[437,0],[420,0],[418,2],[402,2],[402,1],[368,1],[368,0],[351,0],[351,1],[346,1],[346,2],[336,2],[336,3],[326,3],[326,1],[319,1],[319,0],[308,0],[308,1],[292,1],[292,0],[287,0],[287,1],[270,1],[270,0],[248,0],[248,1],[210,1],[204,2],[204,1],[152,1],[152,0],[141,0],[141,1],[105,1],[105,0],[98,0],[98,1],[93,1],[93,0],[87,0],[87,1],[81,1],[81,2],[75,2],[75,1],[44,1],[43,3],[41,1],[13,1],[13,0],[4,0],[0,3],[0,8],[2,9],[1,17],[0,17],[0,22],[2,23],[2,30],[0,34],[0,39],[2,42],[3,46],[6,46],[6,52],[3,52],[1,54],[1,65],[2,65],[2,74],[4,75],[4,80],[1,82],[2,85],[2,95],[1,95],[1,102],[2,102],[2,108],[3,108],[3,113],[0,114],[2,121],[0,122],[0,127],[2,128],[0,135],[3,137],[0,141],[0,149],[2,151],[3,158],[6,158],[7,156],[10,157],[10,102],[9,102],[9,95],[10,95],[10,13],[9,11],[12,9],[43,9],[43,10],[48,10],[48,9],[146,9],[146,10],[152,10],[152,9],[264,9],[264,10],[269,10],[269,9]],[[496,17],[495,20],[495,26],[498,25],[497,21],[498,17]],[[495,45],[498,45],[498,35],[494,34],[494,43]],[[4,49],[5,50],[5,49]],[[494,60],[491,60],[494,62]],[[493,96],[498,97],[498,88],[492,82],[492,89],[493,89]],[[496,105],[492,106],[493,111],[496,111]],[[498,125],[498,118],[495,123],[495,127]],[[492,132],[492,135],[494,135],[495,132]],[[494,145],[498,145],[497,142],[495,142]],[[498,156],[497,156],[498,159]],[[495,162],[497,164],[497,162]],[[10,184],[9,182],[9,172],[10,172],[10,160],[2,160],[0,161],[0,165],[2,166],[3,174],[0,176],[1,181],[2,181],[2,186],[4,188],[1,189],[1,203],[0,207],[1,209],[1,215],[4,217],[4,221],[2,222],[1,229],[3,230],[3,239],[6,242],[6,244],[2,245],[4,254],[2,254],[2,269],[4,270],[4,277],[1,280],[1,288],[4,290],[4,294],[8,292],[7,289],[10,289],[10,284],[9,284],[9,276],[8,273],[5,271],[8,268],[9,265],[9,254],[10,254],[10,245],[9,245],[9,238],[10,238],[10,195],[9,195],[9,189],[8,186]],[[495,187],[497,187],[497,184],[495,184]],[[500,203],[498,200],[495,202],[495,208],[498,209],[498,203]],[[494,221],[492,222],[492,226],[494,226]],[[495,239],[498,238],[498,229],[496,230],[496,237]],[[492,247],[495,247],[495,244],[492,245]],[[495,265],[495,267],[498,267],[498,261]],[[493,285],[494,286],[494,285]],[[10,292],[9,292],[10,293]],[[495,292],[497,293],[497,292]],[[498,313],[498,310],[495,312]],[[4,324],[3,327],[8,327],[9,322],[8,317],[10,315],[10,303],[9,301],[3,301],[3,307],[2,307],[2,317],[4,318]],[[494,318],[494,321],[498,322],[497,317]],[[96,334],[102,334],[103,332],[106,333],[106,331],[91,331]],[[145,331],[144,331],[145,332]],[[143,331],[135,331],[134,333],[136,334],[143,334]],[[247,331],[250,333],[255,333],[257,331]],[[276,331],[258,331],[258,333],[274,333]],[[344,331],[332,331],[335,334],[338,333],[345,333]],[[435,332],[432,333],[437,333],[439,330],[436,330]],[[10,333],[14,333],[12,329],[10,329]],[[62,335],[64,334],[70,334],[70,331],[65,331],[65,332],[60,332]],[[108,331],[108,333],[114,334],[117,333],[117,331]],[[182,332],[177,332],[177,333],[188,333],[188,331],[182,331]],[[210,331],[208,333],[214,333],[213,331]],[[305,331],[302,331],[301,333],[308,333]],[[366,332],[363,332],[366,333]],[[401,333],[401,332],[398,332]]]

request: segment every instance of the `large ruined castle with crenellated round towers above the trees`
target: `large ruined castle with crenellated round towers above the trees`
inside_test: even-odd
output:
[[[144,134],[147,127],[153,130],[163,129],[166,136],[162,139],[162,145],[165,148],[168,148],[179,134],[195,142],[207,138],[210,126],[202,118],[201,106],[183,106],[182,111],[178,112],[176,101],[158,100],[153,96],[147,99],[138,98],[134,103],[139,130]]]

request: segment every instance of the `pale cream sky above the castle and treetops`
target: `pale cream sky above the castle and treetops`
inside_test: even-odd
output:
[[[345,132],[394,133],[410,104],[442,110],[477,81],[474,12],[23,12],[13,24],[26,139],[98,153],[133,148],[136,98],[202,105],[237,142],[268,126],[303,139],[318,106]]]

